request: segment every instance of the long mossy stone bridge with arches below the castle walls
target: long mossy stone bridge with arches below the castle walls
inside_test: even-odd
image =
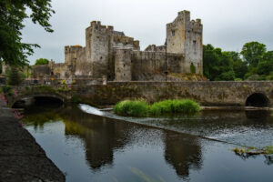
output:
[[[38,89],[38,87],[40,87]],[[18,86],[18,96],[49,96],[62,101],[79,98],[95,106],[114,105],[126,98],[144,98],[155,102],[168,98],[192,98],[202,106],[272,106],[273,82],[108,82],[107,85],[47,88]]]

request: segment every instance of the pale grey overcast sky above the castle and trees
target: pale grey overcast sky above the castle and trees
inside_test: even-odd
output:
[[[273,0],[52,0],[52,5],[54,33],[25,21],[23,41],[41,45],[29,57],[31,64],[41,57],[64,62],[64,46],[86,45],[85,29],[94,20],[139,40],[141,50],[163,45],[166,24],[182,10],[201,18],[203,44],[240,51],[258,41],[273,49]]]

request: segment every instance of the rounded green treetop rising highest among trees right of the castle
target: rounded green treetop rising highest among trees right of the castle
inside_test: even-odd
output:
[[[266,52],[266,45],[258,42],[250,42],[243,46],[241,55],[248,62],[249,66],[258,66],[258,62],[262,60]]]

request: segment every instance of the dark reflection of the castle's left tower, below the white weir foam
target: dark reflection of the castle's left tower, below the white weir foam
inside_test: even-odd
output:
[[[126,145],[128,126],[108,122],[105,117],[92,116],[79,109],[66,108],[62,112],[66,136],[79,136],[86,144],[86,160],[90,167],[100,168],[112,164],[115,148]]]

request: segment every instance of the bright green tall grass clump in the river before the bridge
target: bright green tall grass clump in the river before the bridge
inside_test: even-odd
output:
[[[121,116],[160,116],[164,114],[195,114],[200,111],[197,102],[190,99],[175,99],[148,105],[144,100],[124,100],[116,104],[114,112]]]

